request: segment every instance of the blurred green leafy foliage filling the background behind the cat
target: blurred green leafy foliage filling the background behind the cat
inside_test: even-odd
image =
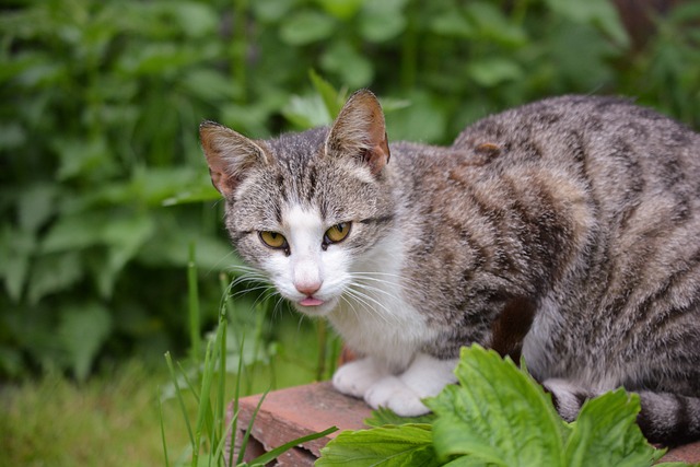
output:
[[[394,140],[445,143],[573,92],[638,96],[697,127],[699,20],[687,2],[633,47],[608,0],[4,2],[0,376],[82,380],[101,358],[184,349],[191,243],[215,322],[218,273],[238,260],[221,203],[201,202],[217,198],[202,119],[254,138],[327,122],[323,75],[397,108]]]

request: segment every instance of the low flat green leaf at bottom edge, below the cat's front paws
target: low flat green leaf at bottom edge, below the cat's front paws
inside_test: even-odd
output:
[[[429,424],[346,431],[320,450],[317,467],[439,466]]]

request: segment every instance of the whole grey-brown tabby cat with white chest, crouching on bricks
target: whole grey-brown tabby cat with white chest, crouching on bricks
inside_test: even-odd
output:
[[[331,128],[200,128],[238,254],[362,358],[335,387],[399,415],[462,346],[525,357],[563,418],[623,386],[655,442],[700,437],[700,136],[608,97],[389,144],[360,91]],[[259,272],[257,273],[259,276]]]

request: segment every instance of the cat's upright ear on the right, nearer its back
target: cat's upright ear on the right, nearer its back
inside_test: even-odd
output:
[[[350,96],[328,133],[326,153],[359,157],[374,175],[389,162],[384,113],[371,91]]]

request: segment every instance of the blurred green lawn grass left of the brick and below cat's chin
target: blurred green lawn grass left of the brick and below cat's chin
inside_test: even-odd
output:
[[[243,372],[242,394],[289,387],[315,380],[315,330],[296,317],[271,320],[277,350],[269,364]],[[177,364],[177,363],[176,363]],[[226,375],[226,400],[235,375]],[[47,374],[0,389],[0,466],[164,466],[159,388],[171,383],[167,365],[120,363],[79,385]],[[218,378],[212,383],[218,390]],[[197,404],[185,390],[190,420]],[[172,466],[188,456],[189,439],[175,397],[163,401],[165,441]]]

